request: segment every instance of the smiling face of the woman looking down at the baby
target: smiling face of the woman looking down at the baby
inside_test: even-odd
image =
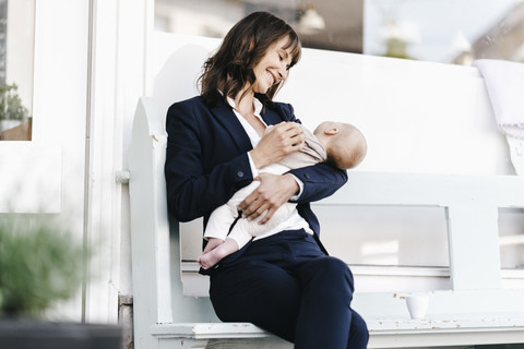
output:
[[[289,47],[285,49],[288,41],[289,38],[286,36],[273,44],[253,68],[255,77],[253,92],[265,94],[271,86],[287,79],[293,59],[291,49]]]

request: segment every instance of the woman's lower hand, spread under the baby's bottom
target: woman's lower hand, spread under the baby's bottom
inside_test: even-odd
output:
[[[242,212],[242,218],[249,220],[262,216],[259,224],[270,220],[275,210],[299,190],[297,181],[289,173],[260,173],[254,180],[260,181],[260,185],[238,205],[238,208]]]

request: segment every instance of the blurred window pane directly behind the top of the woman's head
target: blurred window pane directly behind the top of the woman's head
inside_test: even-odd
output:
[[[305,47],[361,52],[364,0],[156,0],[155,29],[224,37],[248,13],[286,19]]]

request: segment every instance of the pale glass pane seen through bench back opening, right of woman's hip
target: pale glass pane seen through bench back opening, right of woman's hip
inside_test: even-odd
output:
[[[352,265],[449,267],[441,207],[314,206],[322,242]]]

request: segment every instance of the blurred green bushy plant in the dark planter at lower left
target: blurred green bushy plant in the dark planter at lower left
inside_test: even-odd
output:
[[[86,252],[48,218],[0,218],[0,317],[38,317],[82,285]]]

